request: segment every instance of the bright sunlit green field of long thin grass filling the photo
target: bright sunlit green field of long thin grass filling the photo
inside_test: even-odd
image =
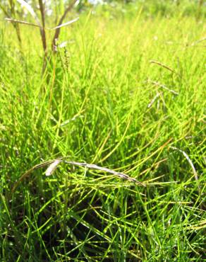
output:
[[[203,261],[204,22],[82,13],[43,76],[39,32],[1,23],[1,261]]]

